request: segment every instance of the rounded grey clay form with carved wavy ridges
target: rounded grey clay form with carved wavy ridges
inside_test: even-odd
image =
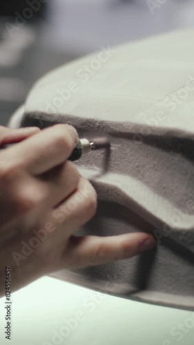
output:
[[[67,123],[80,137],[111,140],[109,155],[99,150],[78,162],[99,200],[78,235],[144,230],[158,241],[133,259],[54,277],[194,310],[194,31],[102,48],[58,68],[21,110],[21,126]]]

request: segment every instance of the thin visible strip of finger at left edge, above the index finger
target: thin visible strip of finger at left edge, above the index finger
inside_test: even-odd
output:
[[[37,127],[12,129],[0,126],[0,146],[18,143],[40,131]]]

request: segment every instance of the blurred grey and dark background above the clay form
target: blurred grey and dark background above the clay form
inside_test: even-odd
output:
[[[192,26],[193,0],[1,1],[0,124],[52,68],[102,45]]]

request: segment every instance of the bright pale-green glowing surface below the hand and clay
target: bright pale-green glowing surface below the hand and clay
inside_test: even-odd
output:
[[[2,345],[6,344],[4,302],[1,298]],[[9,344],[163,345],[168,339],[167,344],[173,345],[177,340],[172,329],[188,319],[191,324],[192,317],[191,312],[132,302],[43,277],[12,295]],[[187,331],[179,344],[193,344],[194,327]]]

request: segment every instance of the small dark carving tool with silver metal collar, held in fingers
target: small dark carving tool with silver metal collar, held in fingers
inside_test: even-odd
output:
[[[107,137],[100,137],[95,139],[80,139],[76,148],[69,157],[70,161],[78,161],[80,157],[86,153],[94,150],[100,150],[102,148],[109,149],[110,141]]]

